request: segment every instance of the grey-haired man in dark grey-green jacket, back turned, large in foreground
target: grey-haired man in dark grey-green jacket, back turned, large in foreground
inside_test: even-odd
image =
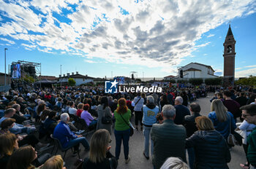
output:
[[[154,142],[152,162],[157,169],[161,168],[167,157],[180,157],[186,162],[185,127],[174,124],[176,110],[172,105],[165,105],[162,108],[162,115],[163,124],[154,124],[151,130],[151,139]]]

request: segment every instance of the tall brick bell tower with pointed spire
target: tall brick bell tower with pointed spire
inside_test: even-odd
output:
[[[224,46],[224,86],[230,86],[234,83],[235,78],[235,44],[231,27],[229,26]]]

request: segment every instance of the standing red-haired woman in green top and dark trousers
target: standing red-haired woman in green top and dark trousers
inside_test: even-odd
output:
[[[125,98],[120,98],[118,100],[118,108],[114,112],[114,117],[116,118],[115,124],[115,137],[116,137],[116,160],[119,159],[121,152],[121,141],[124,144],[124,158],[125,163],[128,164],[129,158],[129,119],[132,117],[131,111],[127,107],[127,101]],[[124,121],[125,120],[125,121]]]

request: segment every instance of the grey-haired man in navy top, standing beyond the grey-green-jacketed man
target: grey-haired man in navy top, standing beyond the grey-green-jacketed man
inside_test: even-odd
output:
[[[183,106],[183,98],[178,96],[175,101],[175,109],[176,109],[176,118],[174,119],[174,123],[176,125],[184,125],[184,117],[190,115],[189,109],[186,106]]]

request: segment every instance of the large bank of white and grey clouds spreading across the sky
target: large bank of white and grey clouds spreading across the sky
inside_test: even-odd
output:
[[[76,4],[76,9],[69,4]],[[60,50],[108,63],[159,67],[171,73],[192,51],[210,44],[195,44],[203,34],[233,18],[252,14],[254,5],[254,0],[145,0],[138,4],[127,0],[2,1],[0,12],[12,21],[1,24],[0,35],[22,39],[27,50]],[[122,15],[120,7],[129,15]],[[70,24],[53,17],[54,13],[64,17],[63,9],[71,12],[67,15]]]

